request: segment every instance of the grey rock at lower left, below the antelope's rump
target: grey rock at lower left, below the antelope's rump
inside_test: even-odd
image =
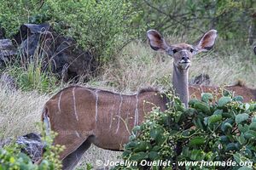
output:
[[[42,157],[44,144],[39,134],[28,133],[24,136],[20,136],[16,140],[16,143],[21,145],[21,152],[30,156],[33,162],[40,160]]]

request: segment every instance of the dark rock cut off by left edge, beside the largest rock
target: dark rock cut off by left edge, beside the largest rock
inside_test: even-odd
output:
[[[9,39],[0,39],[0,69],[14,59],[17,49]]]

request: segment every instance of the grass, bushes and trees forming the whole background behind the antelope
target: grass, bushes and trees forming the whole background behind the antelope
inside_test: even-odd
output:
[[[212,85],[235,84],[240,79],[256,87],[254,0],[9,0],[0,4],[0,27],[7,38],[13,38],[22,24],[44,22],[75,38],[97,60],[96,76],[79,82],[87,87],[124,94],[148,86],[167,88],[172,59],[148,46],[148,29],[160,31],[169,43],[193,43],[203,32],[218,30],[215,48],[193,59],[189,78],[207,73]],[[15,64],[0,70],[15,77],[19,88],[0,88],[0,139],[38,131],[35,122],[45,101],[68,85],[31,62],[28,67],[20,65],[18,56]],[[92,147],[80,167],[85,162],[94,165],[96,159],[118,159],[118,155]]]

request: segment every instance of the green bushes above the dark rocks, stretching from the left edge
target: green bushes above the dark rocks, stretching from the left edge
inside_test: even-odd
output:
[[[0,4],[0,26],[12,37],[24,23],[47,21],[89,49],[101,64],[143,29],[133,25],[139,13],[125,0],[11,0]]]

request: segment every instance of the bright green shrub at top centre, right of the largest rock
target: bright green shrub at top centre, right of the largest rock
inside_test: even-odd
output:
[[[55,29],[74,37],[79,45],[90,49],[99,63],[112,59],[124,42],[134,37],[132,23],[139,12],[125,0],[53,1],[49,5]]]

